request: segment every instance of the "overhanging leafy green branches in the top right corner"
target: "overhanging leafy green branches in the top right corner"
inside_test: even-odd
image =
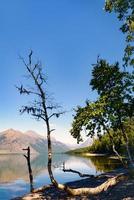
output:
[[[134,1],[133,0],[106,0],[105,10],[115,12],[122,22],[121,31],[126,35],[124,54],[125,65],[134,66]]]

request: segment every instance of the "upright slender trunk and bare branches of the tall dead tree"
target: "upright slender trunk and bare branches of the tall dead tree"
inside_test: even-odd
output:
[[[23,106],[20,109],[20,113],[31,114],[37,120],[43,120],[47,128],[47,142],[48,142],[48,172],[51,182],[54,185],[58,185],[53,177],[52,173],[52,144],[51,133],[54,129],[50,127],[50,120],[53,117],[60,117],[64,112],[61,111],[61,106],[52,102],[52,98],[49,97],[46,90],[46,76],[44,75],[41,62],[38,61],[35,64],[32,62],[33,51],[28,56],[28,62],[24,58],[20,57],[23,64],[26,67],[28,78],[31,79],[32,85],[29,88],[21,85],[16,87],[20,94],[31,95],[35,99],[30,105]]]

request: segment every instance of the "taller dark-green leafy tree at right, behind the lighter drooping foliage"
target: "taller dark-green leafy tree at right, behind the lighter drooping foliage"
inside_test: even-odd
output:
[[[105,95],[108,102],[105,109],[111,124],[110,128],[114,132],[121,131],[126,141],[129,160],[132,163],[129,138],[124,124],[134,115],[133,76],[128,72],[121,72],[118,63],[110,66],[106,61],[99,60],[94,67],[90,84],[93,90],[97,90],[100,97]]]

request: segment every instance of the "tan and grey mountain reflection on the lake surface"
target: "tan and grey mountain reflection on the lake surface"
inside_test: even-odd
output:
[[[55,155],[53,159],[53,165],[59,166],[65,160],[66,156]],[[47,172],[47,156],[46,155],[32,155],[31,166],[34,176],[39,173]],[[28,171],[26,159],[23,155],[1,155],[0,156],[0,183],[7,183],[16,179],[23,179],[28,181]]]

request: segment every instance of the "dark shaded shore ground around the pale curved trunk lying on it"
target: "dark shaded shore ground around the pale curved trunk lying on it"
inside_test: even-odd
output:
[[[126,169],[121,168],[118,170],[114,170],[111,172],[107,172],[104,174],[99,175],[98,177],[90,177],[84,178],[80,180],[76,180],[73,182],[68,182],[66,185],[72,188],[79,188],[79,187],[97,187],[98,185],[102,184],[103,182],[107,181],[108,178],[117,176],[121,173],[126,173]],[[57,200],[125,200],[126,198],[134,197],[134,190],[133,190],[134,180],[133,179],[126,179],[124,181],[119,182],[114,187],[109,188],[106,191],[103,191],[99,195],[96,196],[69,196],[66,192],[60,191],[59,189],[55,188],[53,185],[44,186],[43,191],[39,191],[39,188],[35,190],[34,193],[26,194],[22,197],[17,197],[12,200],[47,200],[47,199],[57,199]]]

